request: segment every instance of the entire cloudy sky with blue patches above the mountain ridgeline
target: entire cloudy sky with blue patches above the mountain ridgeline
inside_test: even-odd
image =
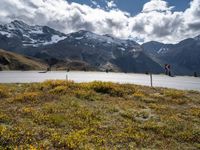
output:
[[[12,20],[64,33],[177,43],[200,35],[200,0],[1,0],[0,23]]]

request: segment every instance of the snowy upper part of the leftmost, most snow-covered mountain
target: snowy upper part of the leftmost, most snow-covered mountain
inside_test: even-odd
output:
[[[0,25],[0,35],[21,40],[22,46],[48,45],[66,38],[66,35],[47,26],[30,26],[22,21]]]

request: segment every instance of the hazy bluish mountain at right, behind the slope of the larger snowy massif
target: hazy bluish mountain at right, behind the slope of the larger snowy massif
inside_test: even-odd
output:
[[[174,74],[200,73],[200,36],[185,39],[177,44],[151,41],[144,43],[142,48],[157,63],[171,64]]]

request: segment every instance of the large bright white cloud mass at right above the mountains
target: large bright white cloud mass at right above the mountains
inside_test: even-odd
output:
[[[200,0],[192,0],[183,12],[172,11],[164,0],[151,0],[131,18],[132,36],[144,41],[176,43],[200,34]]]

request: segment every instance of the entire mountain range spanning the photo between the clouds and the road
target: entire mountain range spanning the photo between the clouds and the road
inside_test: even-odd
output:
[[[17,20],[0,25],[1,49],[62,69],[163,73],[164,64],[170,63],[175,66],[175,74],[192,74],[200,72],[199,43],[196,37],[178,44],[140,45],[84,30],[63,34],[47,26],[30,26]]]

